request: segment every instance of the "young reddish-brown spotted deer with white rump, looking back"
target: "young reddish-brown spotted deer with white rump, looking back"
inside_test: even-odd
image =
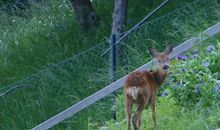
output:
[[[124,85],[127,130],[131,129],[133,104],[137,106],[137,110],[132,117],[132,124],[134,130],[139,130],[141,113],[148,105],[148,102],[152,113],[153,129],[156,129],[156,92],[168,76],[172,49],[171,44],[167,44],[165,51],[161,53],[152,47],[148,48],[150,55],[155,59],[155,69],[151,71],[134,71],[128,75]]]

